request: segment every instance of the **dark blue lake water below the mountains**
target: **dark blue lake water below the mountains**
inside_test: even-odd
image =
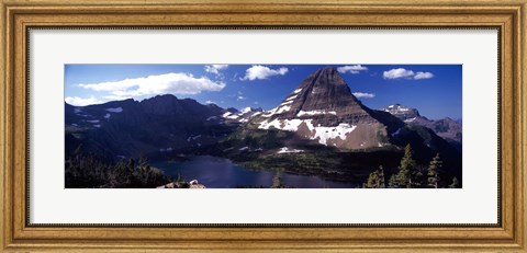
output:
[[[276,172],[251,171],[233,163],[228,159],[210,156],[197,156],[184,162],[153,162],[167,175],[181,175],[186,181],[198,180],[208,188],[235,188],[244,186],[269,187]],[[282,183],[295,188],[354,188],[352,183],[333,182],[317,176],[282,173]]]

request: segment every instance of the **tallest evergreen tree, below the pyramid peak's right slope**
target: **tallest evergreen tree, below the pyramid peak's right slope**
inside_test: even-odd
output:
[[[397,174],[390,177],[389,185],[393,188],[414,188],[422,186],[421,177],[423,173],[417,169],[417,163],[412,157],[412,147],[406,145],[404,156],[401,159]]]

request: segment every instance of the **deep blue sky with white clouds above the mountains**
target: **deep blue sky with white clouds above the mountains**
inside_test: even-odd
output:
[[[335,67],[371,108],[400,103],[438,119],[461,118],[461,65],[66,65],[65,101],[137,101],[171,93],[221,107],[270,110],[310,73]]]

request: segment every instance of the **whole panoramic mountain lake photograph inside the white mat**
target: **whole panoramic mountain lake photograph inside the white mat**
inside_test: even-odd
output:
[[[461,65],[64,70],[66,188],[462,187]]]

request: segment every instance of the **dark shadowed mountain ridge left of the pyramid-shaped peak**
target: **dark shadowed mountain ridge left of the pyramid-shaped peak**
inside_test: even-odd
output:
[[[224,110],[215,104],[158,95],[137,102],[65,105],[67,154],[86,151],[112,157],[155,156],[215,143],[261,108]]]

